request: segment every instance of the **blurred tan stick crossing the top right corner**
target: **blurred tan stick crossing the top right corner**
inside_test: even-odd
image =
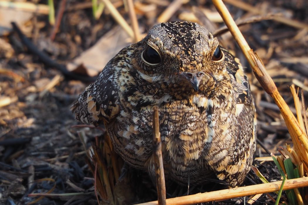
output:
[[[224,2],[232,4],[233,6],[236,6],[240,9],[253,12],[254,14],[261,14],[261,15],[264,14],[264,11],[262,11],[258,8],[255,8],[255,7],[251,6],[250,4],[242,2],[242,1],[224,0]],[[308,28],[308,25],[305,24],[305,23],[295,21],[293,19],[286,18],[286,17],[283,17],[283,16],[273,16],[273,20],[280,22],[280,23],[283,23],[283,24],[286,24],[288,26],[293,26],[293,27],[298,28],[298,29]]]

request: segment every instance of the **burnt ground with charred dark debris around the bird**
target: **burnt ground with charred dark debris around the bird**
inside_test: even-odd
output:
[[[140,5],[135,5],[137,10],[139,9],[137,13],[140,27],[143,28],[142,32],[151,28],[156,17],[166,8],[165,2],[168,3],[164,0],[157,3],[142,1],[143,5],[155,6],[152,15],[144,12]],[[308,5],[304,0],[247,2],[254,8],[266,11],[265,13],[280,12],[288,18],[308,24]],[[53,41],[50,40],[53,26],[49,24],[47,15],[33,15],[29,21],[18,26],[39,52],[47,53],[51,59],[66,65],[84,50],[95,45],[99,38],[117,25],[107,9],[98,20],[95,20],[91,6],[76,8],[76,5],[83,3],[79,0],[67,1],[59,32]],[[129,22],[123,3],[121,1],[114,3]],[[55,2],[56,12],[58,6],[59,2]],[[170,20],[183,20],[181,14],[196,13],[196,6],[215,11],[210,1],[191,1],[182,5]],[[236,6],[228,8],[234,18],[243,20],[256,15],[249,9],[245,11]],[[200,14],[197,16],[199,22],[206,22],[204,16]],[[220,27],[224,24],[213,25]],[[293,98],[288,86],[291,84],[300,86],[306,100],[308,96],[308,31],[307,27],[306,30],[304,27],[298,28],[273,20],[249,23],[241,27],[249,45],[264,61],[278,90],[293,110]],[[258,139],[268,152],[279,154],[279,146],[290,144],[291,139],[278,107],[263,91],[230,35],[224,34],[221,39],[222,43],[241,59],[251,80],[251,90],[258,114]],[[0,102],[10,101],[0,106],[0,204],[29,203],[38,197],[30,197],[28,194],[46,193],[54,185],[55,188],[51,193],[60,195],[45,197],[36,204],[97,204],[93,174],[86,163],[84,146],[79,135],[83,134],[86,146],[89,148],[95,142],[95,136],[99,136],[101,131],[89,127],[72,127],[77,123],[70,111],[71,104],[89,82],[72,79],[71,76],[63,75],[63,72],[55,68],[56,66],[43,63],[37,53],[27,48],[15,31],[3,35],[0,40]],[[55,85],[45,91],[52,80],[56,81]],[[269,156],[265,149],[258,145],[256,157]],[[273,162],[256,161],[254,164],[269,181],[280,180],[279,172]],[[129,180],[133,181],[131,188],[133,192],[137,192],[130,203],[155,200],[155,187],[151,179],[140,171],[131,169],[130,172]],[[39,179],[45,180],[34,182]],[[261,181],[250,171],[244,185],[255,183]],[[217,189],[212,186],[191,185],[191,193]],[[63,195],[81,192],[85,194]],[[186,187],[171,185],[168,197],[185,195],[186,192]],[[276,198],[274,193],[270,195]],[[244,199],[209,204],[235,203],[244,204]],[[274,204],[274,202],[267,195],[262,195],[254,204]]]

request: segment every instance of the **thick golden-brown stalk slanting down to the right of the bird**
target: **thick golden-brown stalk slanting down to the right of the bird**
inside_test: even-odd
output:
[[[237,41],[237,44],[240,46],[242,52],[244,53],[246,59],[248,60],[251,68],[254,71],[255,76],[257,77],[258,81],[260,82],[263,89],[268,93],[278,105],[280,112],[284,120],[286,121],[286,125],[288,130],[293,130],[299,140],[301,140],[304,148],[308,152],[308,139],[306,138],[303,130],[300,128],[298,121],[296,120],[295,116],[291,112],[290,108],[283,100],[282,96],[279,94],[274,81],[267,73],[261,59],[257,56],[256,53],[250,49],[248,43],[246,42],[245,38],[241,34],[240,30],[236,26],[231,14],[227,10],[225,4],[221,0],[213,0],[213,4],[221,14],[221,17],[224,19],[225,24],[228,26],[231,34]],[[292,140],[295,141],[294,137]]]

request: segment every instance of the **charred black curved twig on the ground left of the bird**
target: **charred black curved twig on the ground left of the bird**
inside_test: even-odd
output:
[[[46,53],[40,51],[24,34],[22,34],[21,30],[18,28],[15,22],[12,22],[11,24],[13,26],[13,30],[18,34],[22,43],[26,45],[27,49],[31,53],[33,53],[34,55],[37,55],[39,59],[46,66],[58,69],[67,78],[80,80],[84,82],[93,82],[96,80],[97,76],[96,77],[85,77],[85,76],[68,71],[65,65],[58,64],[57,62],[53,61]]]

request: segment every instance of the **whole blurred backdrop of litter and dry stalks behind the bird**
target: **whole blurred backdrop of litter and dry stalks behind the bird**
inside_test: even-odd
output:
[[[308,1],[224,2],[295,113],[291,84],[308,102]],[[39,204],[97,204],[84,148],[101,130],[72,127],[77,123],[69,108],[120,49],[167,21],[205,26],[241,60],[257,109],[257,157],[279,154],[280,146],[291,143],[277,105],[253,76],[211,1],[0,0],[0,204],[29,203],[38,197],[28,194],[50,190],[59,195]],[[268,179],[280,179],[273,163],[256,164]],[[252,172],[249,177],[245,185],[260,183]],[[42,181],[34,183],[37,179]],[[136,184],[147,184],[146,189],[119,196],[122,204],[156,199],[149,179]],[[268,198],[258,200],[255,204]],[[234,203],[243,199],[216,204]]]

